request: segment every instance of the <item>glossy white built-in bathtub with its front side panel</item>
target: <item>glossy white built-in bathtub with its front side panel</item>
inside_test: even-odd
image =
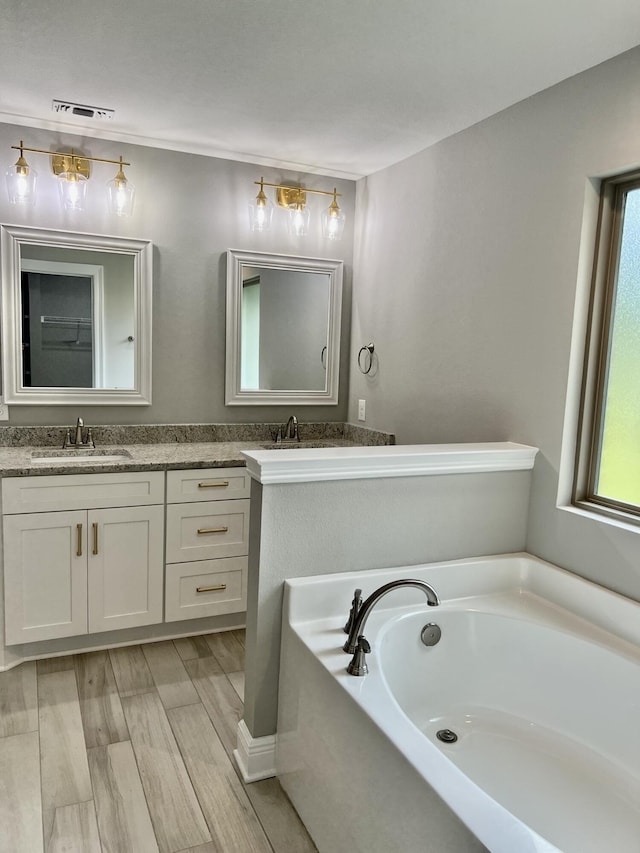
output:
[[[348,675],[353,589],[402,577],[441,605],[381,599]],[[286,583],[281,648],[276,768],[320,853],[639,853],[637,603],[526,554],[323,575]]]

